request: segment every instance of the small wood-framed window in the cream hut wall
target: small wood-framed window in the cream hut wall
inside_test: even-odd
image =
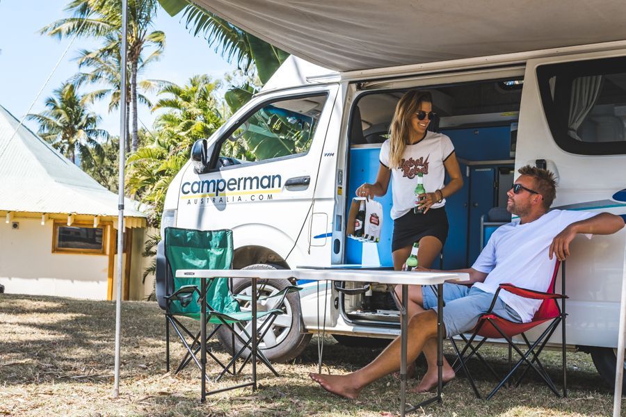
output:
[[[106,254],[106,226],[64,222],[54,223],[52,252],[72,254]]]

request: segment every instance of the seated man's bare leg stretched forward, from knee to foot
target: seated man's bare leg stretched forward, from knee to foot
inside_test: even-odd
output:
[[[408,323],[407,361],[415,361],[422,352],[424,343],[435,341],[437,337],[437,313],[424,311],[410,318]],[[310,373],[309,376],[323,389],[345,398],[358,398],[364,386],[371,384],[385,375],[400,368],[401,341],[396,337],[374,361],[360,370],[346,375],[322,375]]]

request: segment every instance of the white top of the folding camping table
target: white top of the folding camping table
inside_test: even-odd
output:
[[[306,269],[294,270],[177,270],[177,278],[309,279],[312,281],[378,282],[380,284],[433,285],[444,281],[469,281],[465,272],[412,272],[392,270]]]

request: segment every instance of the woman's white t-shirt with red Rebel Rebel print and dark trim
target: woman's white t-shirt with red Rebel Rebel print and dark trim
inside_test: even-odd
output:
[[[389,166],[390,140],[380,147],[380,163]],[[424,174],[424,190],[434,193],[444,188],[446,170],[444,161],[454,152],[454,145],[448,136],[441,133],[426,132],[424,139],[415,145],[406,145],[399,167],[392,167],[392,198],[394,205],[391,218],[396,220],[415,207],[415,187],[417,173]],[[446,200],[435,203],[431,208],[439,208]]]

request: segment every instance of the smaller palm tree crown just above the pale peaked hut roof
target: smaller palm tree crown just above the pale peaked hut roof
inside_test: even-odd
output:
[[[97,129],[99,117],[82,104],[82,97],[72,83],[64,83],[54,90],[54,96],[45,101],[46,111],[29,114],[29,120],[39,123],[38,134],[52,147],[74,163],[80,155],[81,165],[93,166],[102,162],[104,150],[99,139],[108,139],[109,133]]]

